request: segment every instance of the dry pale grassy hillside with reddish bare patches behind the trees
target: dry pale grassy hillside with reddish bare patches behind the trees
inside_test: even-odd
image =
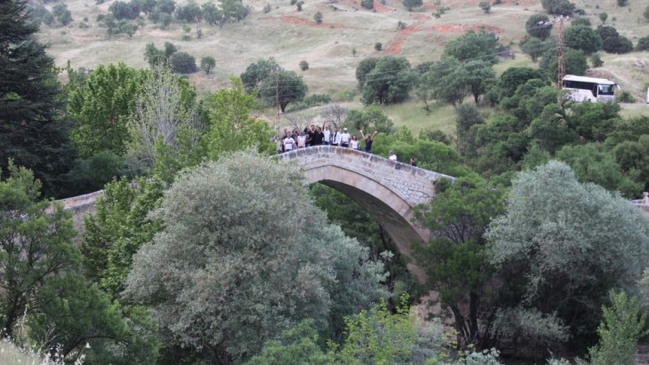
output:
[[[446,42],[469,29],[493,31],[501,44],[512,47],[516,58],[496,65],[497,72],[530,65],[531,60],[519,52],[517,44],[525,36],[525,21],[534,13],[543,12],[540,0],[503,0],[492,6],[490,14],[478,7],[479,0],[441,0],[449,10],[439,19],[432,16],[437,8],[433,0],[424,0],[421,9],[413,12],[407,12],[397,0],[387,0],[384,5],[375,1],[375,11],[360,8],[360,2],[354,0],[306,0],[302,12],[297,12],[289,0],[244,0],[244,4],[252,7],[252,13],[236,24],[223,28],[206,23],[189,24],[191,30],[186,34],[180,24],[162,30],[144,20],[143,26],[129,38],[109,37],[106,29],[98,27],[97,15],[108,13],[110,2],[100,5],[94,0],[65,2],[72,12],[73,23],[68,28],[43,25],[40,33],[40,40],[50,44],[49,52],[60,66],[69,60],[72,67],[91,69],[118,61],[132,67],[148,67],[143,58],[145,45],[152,42],[162,47],[164,42],[171,42],[179,51],[194,55],[196,60],[204,56],[216,59],[212,75],[196,72],[189,76],[201,94],[223,87],[230,75],[240,75],[253,61],[274,57],[284,68],[303,75],[309,93],[328,93],[336,101],[349,101],[350,95],[358,95],[355,72],[361,60],[385,54],[404,56],[413,65],[437,60]],[[617,28],[636,44],[639,37],[649,36],[649,23],[642,17],[646,4],[644,1],[629,3],[618,7],[611,0],[575,2],[585,10],[585,16],[594,26],[601,24],[598,14],[606,12],[606,25]],[[262,11],[266,4],[271,5],[271,12]],[[316,12],[324,15],[322,24],[313,20]],[[404,31],[397,30],[398,21],[407,25]],[[87,28],[80,28],[80,23]],[[196,36],[197,29],[203,33],[200,39]],[[183,41],[184,35],[191,39]],[[383,44],[383,52],[374,50],[377,42]],[[356,56],[352,50],[356,50]],[[307,71],[300,71],[300,60],[308,61]],[[640,102],[644,105],[649,86],[649,53],[605,54],[603,60],[604,66],[596,71],[611,75],[622,89],[631,91],[637,98],[638,106],[629,107],[625,113],[649,115],[649,108],[639,105]],[[357,102],[349,105],[361,107]],[[427,115],[421,103],[413,99],[385,110],[397,125],[406,124],[413,131],[430,127],[446,132],[453,130],[453,107],[439,106]],[[268,116],[271,120],[274,117]]]

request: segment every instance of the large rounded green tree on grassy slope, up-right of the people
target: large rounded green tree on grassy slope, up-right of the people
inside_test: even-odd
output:
[[[413,73],[408,60],[404,57],[381,57],[372,71],[365,75],[363,103],[399,103],[408,99],[412,87]]]

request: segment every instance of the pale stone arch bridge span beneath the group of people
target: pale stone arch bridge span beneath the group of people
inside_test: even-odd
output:
[[[279,155],[299,163],[309,184],[333,187],[365,208],[411,256],[411,242],[428,242],[429,230],[413,223],[413,208],[434,196],[433,182],[452,179],[407,163],[345,147],[316,146]],[[418,272],[415,267],[411,271]],[[421,278],[421,273],[416,273]]]

